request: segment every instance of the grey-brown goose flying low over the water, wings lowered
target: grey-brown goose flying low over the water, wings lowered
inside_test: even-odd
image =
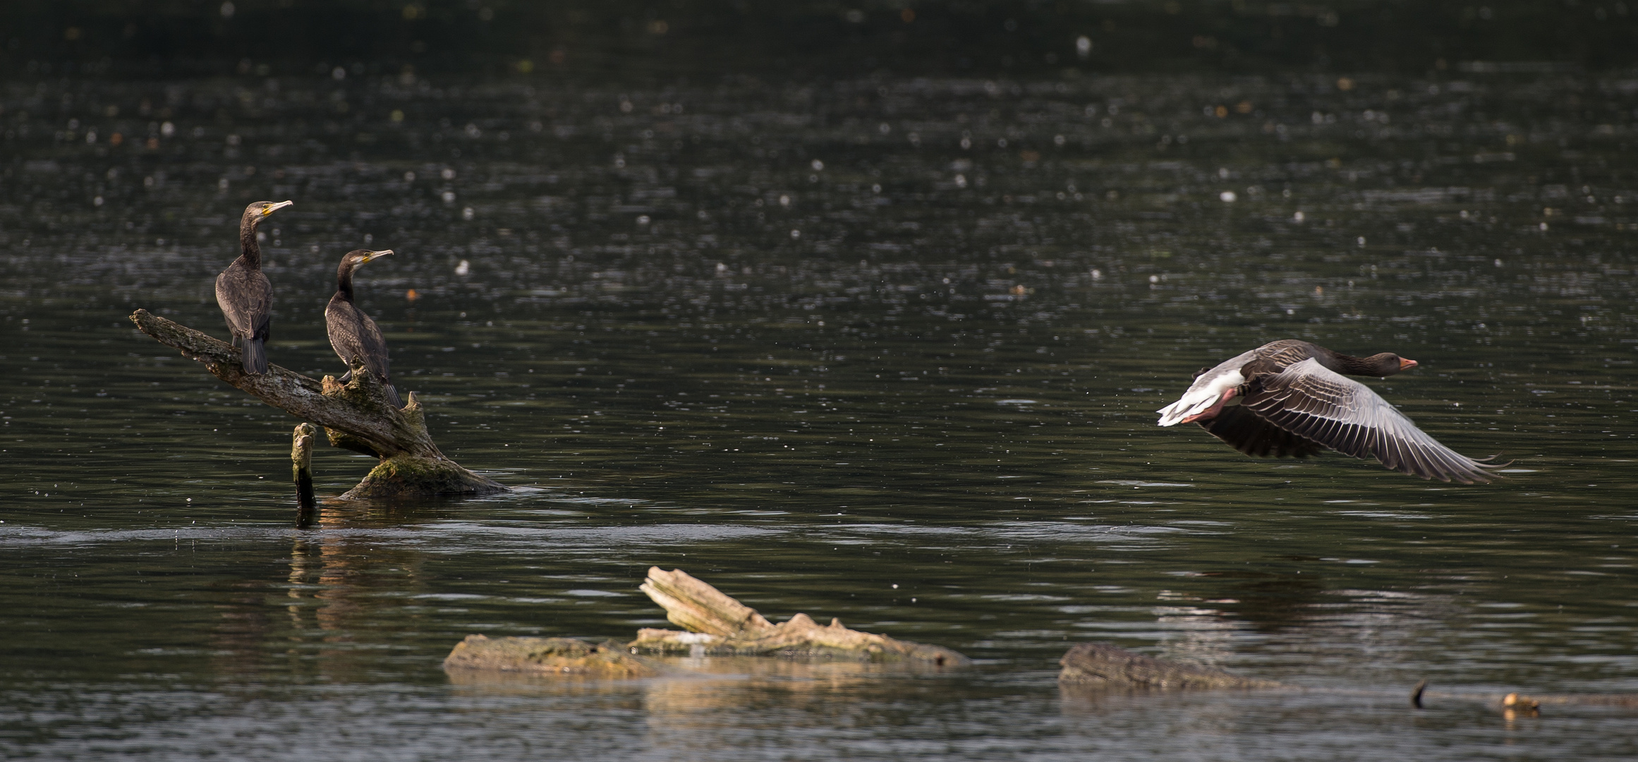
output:
[[[1307,457],[1322,449],[1441,482],[1489,482],[1500,464],[1461,456],[1419,429],[1353,375],[1394,375],[1415,367],[1392,352],[1350,357],[1307,341],[1263,344],[1204,369],[1160,424],[1199,423],[1247,456]],[[1486,459],[1489,460],[1489,459]]]

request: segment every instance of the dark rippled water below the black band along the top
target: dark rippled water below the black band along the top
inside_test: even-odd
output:
[[[0,751],[1630,759],[1630,711],[1405,701],[1638,692],[1638,80],[1461,77],[7,84]],[[336,262],[395,249],[398,387],[514,493],[292,528],[296,421],[126,320],[226,336],[264,198],[272,362],[342,370]],[[1278,338],[1417,359],[1369,383],[1514,465],[1153,424]],[[980,664],[439,667],[658,626],[650,565]],[[1060,692],[1076,641],[1314,690]]]

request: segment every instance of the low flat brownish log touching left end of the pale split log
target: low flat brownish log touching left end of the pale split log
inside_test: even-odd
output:
[[[542,675],[652,677],[658,670],[634,659],[619,642],[572,637],[467,636],[444,657],[444,669],[532,672]]]

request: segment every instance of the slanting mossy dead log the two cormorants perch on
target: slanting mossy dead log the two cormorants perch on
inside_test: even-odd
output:
[[[410,403],[403,410],[396,408],[387,398],[380,379],[364,370],[362,364],[352,367],[347,383],[331,375],[318,382],[280,365],[249,375],[241,364],[239,349],[224,341],[147,310],[131,313],[131,321],[161,344],[198,361],[228,385],[324,426],[333,446],[380,457],[380,464],[357,487],[341,495],[346,500],[483,495],[508,488],[444,457],[426,431],[426,413],[416,393],[410,393]]]

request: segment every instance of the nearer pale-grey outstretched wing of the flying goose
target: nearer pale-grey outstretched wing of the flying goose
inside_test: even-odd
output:
[[[1369,387],[1314,359],[1265,377],[1242,408],[1337,452],[1376,457],[1389,469],[1422,479],[1489,482],[1495,477],[1486,469],[1500,467],[1440,444]]]

